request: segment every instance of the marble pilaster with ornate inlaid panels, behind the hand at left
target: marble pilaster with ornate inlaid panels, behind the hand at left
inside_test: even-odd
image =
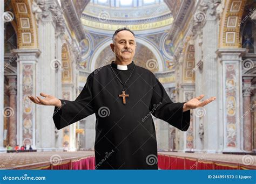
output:
[[[17,79],[17,136],[18,145],[32,145],[36,148],[36,105],[28,95],[36,95],[36,72],[38,49],[14,49],[18,55]]]

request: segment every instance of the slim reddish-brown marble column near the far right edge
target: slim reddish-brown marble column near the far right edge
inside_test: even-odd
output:
[[[243,101],[244,112],[241,116],[240,123],[244,124],[244,150],[252,151],[252,119],[251,119],[251,94],[252,86],[251,81],[253,77],[243,77]]]

